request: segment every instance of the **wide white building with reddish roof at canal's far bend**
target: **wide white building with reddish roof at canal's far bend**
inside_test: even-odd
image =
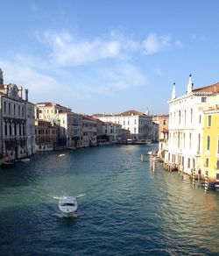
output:
[[[148,113],[128,110],[121,114],[96,114],[94,117],[102,122],[121,124],[122,128],[131,132],[131,139],[152,141],[152,117]]]

